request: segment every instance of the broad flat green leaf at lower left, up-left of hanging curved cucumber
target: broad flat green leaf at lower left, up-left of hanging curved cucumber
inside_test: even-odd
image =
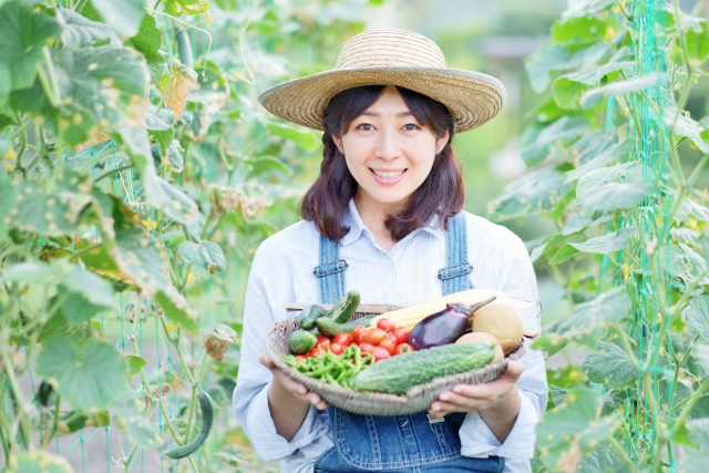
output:
[[[79,411],[107,408],[129,389],[121,353],[102,341],[79,347],[64,336],[49,339],[37,359],[37,372],[56,380],[59,394]]]

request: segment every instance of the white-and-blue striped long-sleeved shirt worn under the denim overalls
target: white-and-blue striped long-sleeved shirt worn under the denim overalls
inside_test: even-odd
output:
[[[435,219],[434,219],[435,222]],[[466,214],[470,278],[476,289],[503,291],[538,300],[536,278],[522,240],[507,228]],[[445,265],[445,232],[434,226],[419,228],[389,251],[374,241],[352,200],[340,241],[347,289],[357,289],[362,304],[412,306],[442,296],[438,270]],[[319,233],[309,222],[299,222],[267,238],[256,251],[244,307],[242,359],[234,391],[234,411],[256,453],[264,460],[281,461],[284,472],[314,471],[314,462],[332,446],[327,411],[310,410],[290,442],[276,433],[268,408],[271,373],[258,362],[265,338],[273,326],[294,317],[284,304],[317,304],[318,281],[312,270],[318,261]],[[538,308],[522,315],[525,330],[540,332]],[[505,472],[530,472],[535,425],[546,409],[546,372],[537,350],[521,361],[525,370],[517,381],[522,399],[515,425],[504,443],[495,438],[477,413],[469,413],[460,436],[466,456],[499,455]]]

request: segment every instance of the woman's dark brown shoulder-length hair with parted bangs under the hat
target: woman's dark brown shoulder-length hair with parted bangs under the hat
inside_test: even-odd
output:
[[[328,238],[339,240],[349,232],[343,222],[347,205],[357,193],[357,181],[350,174],[345,155],[332,140],[347,133],[350,123],[381,96],[386,85],[366,85],[348,89],[335,95],[325,109],[322,125],[322,164],[320,176],[300,203],[300,216],[314,222]],[[442,103],[403,88],[397,88],[418,122],[441,137],[448,130],[450,138],[435,155],[433,167],[423,184],[417,188],[409,205],[399,214],[391,214],[384,225],[394,240],[401,240],[417,228],[429,225],[434,215],[448,228],[448,218],[461,212],[465,198],[463,177],[458,157],[451,147],[455,120]]]

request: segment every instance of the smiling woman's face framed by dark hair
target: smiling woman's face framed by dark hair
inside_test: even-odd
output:
[[[421,125],[393,86],[332,137],[359,184],[356,202],[399,210],[425,181],[433,160],[448,143]]]

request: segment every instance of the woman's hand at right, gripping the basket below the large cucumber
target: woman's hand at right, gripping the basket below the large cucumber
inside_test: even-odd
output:
[[[458,384],[451,391],[443,391],[439,399],[431,403],[429,413],[433,418],[442,418],[452,412],[485,412],[514,414],[520,411],[517,379],[524,371],[524,364],[510,360],[507,369],[500,378],[482,384]],[[486,419],[485,419],[486,421]]]

